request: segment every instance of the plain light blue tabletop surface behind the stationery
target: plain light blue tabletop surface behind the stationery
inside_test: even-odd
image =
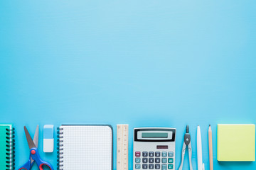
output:
[[[201,125],[208,169],[208,125],[215,169],[216,125],[256,120],[256,1],[0,1],[0,123],[16,128],[16,168],[28,159],[23,125],[129,124],[175,127],[176,169],[186,124],[196,169]],[[33,167],[33,169],[37,169]],[[188,157],[184,168],[188,169]]]

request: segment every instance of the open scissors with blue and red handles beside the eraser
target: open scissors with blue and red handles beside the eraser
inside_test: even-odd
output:
[[[18,170],[30,170],[31,167],[33,166],[34,162],[36,162],[36,164],[40,170],[43,170],[43,167],[47,167],[47,169],[53,170],[53,166],[51,166],[48,162],[42,161],[39,156],[39,152],[37,149],[37,147],[38,147],[38,129],[39,129],[39,126],[37,125],[36,132],[35,132],[35,135],[32,140],[31,135],[29,135],[29,132],[28,132],[26,126],[24,126],[26,140],[28,142],[28,147],[30,149],[30,151],[29,151],[30,154],[29,154],[28,162],[26,162],[26,164],[21,166],[21,168]]]

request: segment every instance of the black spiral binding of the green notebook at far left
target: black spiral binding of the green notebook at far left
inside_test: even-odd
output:
[[[15,169],[15,140],[14,128],[6,128],[6,170]]]

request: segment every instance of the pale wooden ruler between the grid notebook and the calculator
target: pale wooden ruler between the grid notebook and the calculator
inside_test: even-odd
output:
[[[129,125],[117,125],[117,170],[128,170]]]

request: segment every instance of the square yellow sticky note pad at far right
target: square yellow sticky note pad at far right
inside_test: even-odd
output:
[[[255,125],[218,124],[217,133],[218,161],[255,161]]]

